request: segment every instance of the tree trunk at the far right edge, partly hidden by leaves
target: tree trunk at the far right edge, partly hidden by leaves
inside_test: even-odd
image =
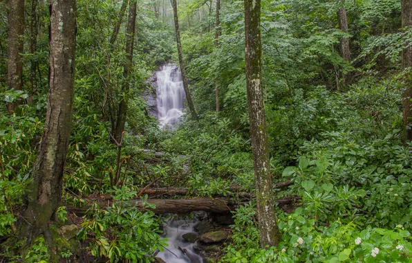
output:
[[[412,26],[412,0],[402,0],[402,28]],[[402,67],[412,66],[412,46],[406,46],[402,51]],[[406,140],[412,140],[412,76],[409,74],[406,88],[402,94],[404,125],[406,127]]]

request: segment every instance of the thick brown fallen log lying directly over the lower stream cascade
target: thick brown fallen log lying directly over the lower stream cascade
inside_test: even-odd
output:
[[[295,201],[300,200],[301,197],[285,197],[278,199],[279,207],[292,204]],[[230,202],[228,199],[211,198],[211,197],[199,197],[194,199],[148,199],[146,203],[155,205],[155,208],[147,208],[153,211],[155,214],[188,214],[194,211],[206,211],[224,213],[230,212],[238,207],[239,203]],[[247,202],[243,202],[247,203]],[[109,206],[109,202],[100,203],[100,208]],[[142,201],[134,200],[130,206],[135,206],[139,209],[146,209],[142,207]],[[74,206],[66,206],[71,212],[75,212],[77,215],[85,215],[90,207],[76,208]]]

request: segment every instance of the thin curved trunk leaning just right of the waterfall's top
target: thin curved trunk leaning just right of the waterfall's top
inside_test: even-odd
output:
[[[191,101],[189,85],[187,84],[187,78],[186,78],[186,73],[185,73],[185,63],[183,62],[182,44],[180,43],[178,4],[176,3],[176,1],[177,0],[173,0],[172,3],[173,3],[173,12],[174,12],[174,27],[175,27],[175,30],[176,30],[176,43],[178,45],[180,72],[182,73],[182,80],[183,80],[183,89],[185,89],[187,105],[189,105],[189,110],[191,112],[191,116],[193,116],[193,118],[197,119],[198,116],[196,115],[196,111],[194,109],[193,102]]]

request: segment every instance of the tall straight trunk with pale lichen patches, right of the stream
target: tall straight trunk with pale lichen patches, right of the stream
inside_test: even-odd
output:
[[[245,58],[247,105],[256,185],[261,246],[277,246],[281,240],[272,197],[272,176],[262,89],[261,1],[245,0]]]

